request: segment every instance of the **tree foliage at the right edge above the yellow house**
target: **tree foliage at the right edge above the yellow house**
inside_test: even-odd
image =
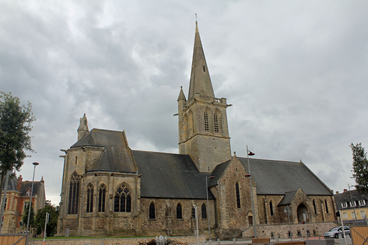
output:
[[[353,151],[353,179],[355,179],[355,188],[360,192],[368,192],[368,160],[367,153],[362,147],[362,143],[350,145],[351,151]]]

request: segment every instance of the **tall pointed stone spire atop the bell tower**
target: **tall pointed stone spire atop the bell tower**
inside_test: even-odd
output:
[[[203,96],[215,97],[208,73],[205,54],[203,52],[201,37],[199,37],[197,21],[195,22],[194,50],[188,100],[195,93],[199,93]]]

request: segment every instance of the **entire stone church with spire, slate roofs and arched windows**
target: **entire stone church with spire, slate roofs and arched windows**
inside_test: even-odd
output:
[[[304,163],[231,155],[226,98],[216,98],[196,22],[188,99],[178,97],[179,154],[132,150],[125,131],[88,130],[64,158],[58,234],[232,237],[256,224],[335,220],[333,192]],[[244,145],[245,147],[245,145]],[[159,177],[158,177],[159,176]],[[206,188],[206,181],[208,188]],[[254,197],[252,212],[251,192]],[[207,203],[208,195],[208,203]]]

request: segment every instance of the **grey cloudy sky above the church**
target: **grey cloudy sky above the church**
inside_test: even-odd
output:
[[[0,1],[0,90],[37,118],[20,173],[60,201],[64,155],[89,129],[132,149],[178,153],[195,12],[231,151],[300,159],[334,191],[354,184],[350,143],[368,149],[367,1]]]

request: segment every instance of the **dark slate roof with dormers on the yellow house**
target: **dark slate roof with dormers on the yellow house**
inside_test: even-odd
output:
[[[350,196],[351,192],[351,196]],[[335,198],[336,208],[337,210],[348,210],[353,209],[352,206],[350,206],[351,197],[353,197],[353,201],[356,201],[357,205],[354,208],[368,208],[368,194],[362,193],[357,190],[351,190],[351,191],[344,191],[339,194],[333,195]],[[346,199],[347,198],[347,199]],[[359,205],[360,200],[365,200],[365,205]],[[341,206],[341,203],[346,202],[347,206],[346,208],[343,208]]]

